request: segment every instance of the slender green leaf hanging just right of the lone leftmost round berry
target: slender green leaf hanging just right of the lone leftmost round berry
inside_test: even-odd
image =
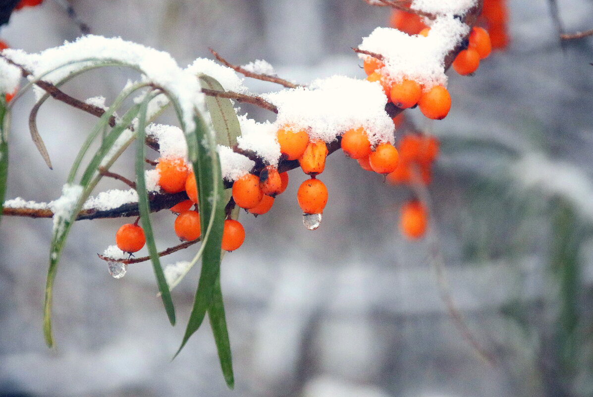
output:
[[[144,179],[144,159],[146,158],[146,145],[144,144],[146,135],[146,111],[148,110],[148,102],[150,99],[151,96],[147,95],[146,99],[142,102],[138,128],[136,129],[136,191],[138,192],[140,219],[146,236],[146,246],[148,247],[148,252],[150,254],[152,269],[154,270],[155,277],[157,277],[158,290],[161,293],[162,303],[165,306],[165,312],[167,312],[169,321],[171,322],[171,325],[175,325],[175,307],[173,306],[167,279],[165,279],[165,274],[162,271],[157,246],[154,242],[154,234],[152,233],[150,220],[150,204],[148,202],[146,181]]]

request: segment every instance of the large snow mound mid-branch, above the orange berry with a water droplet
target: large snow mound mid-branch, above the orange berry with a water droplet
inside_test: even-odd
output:
[[[308,129],[311,139],[331,142],[352,128],[365,128],[371,144],[394,143],[387,97],[376,82],[332,76],[264,97],[278,106],[276,125]]]

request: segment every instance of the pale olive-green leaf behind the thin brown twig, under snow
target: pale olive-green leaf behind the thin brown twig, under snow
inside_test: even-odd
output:
[[[202,88],[224,92],[222,85],[214,78],[205,74],[200,74],[199,78]],[[212,125],[216,132],[216,143],[232,147],[237,143],[237,137],[241,135],[241,126],[231,100],[207,96],[206,107],[208,107]]]

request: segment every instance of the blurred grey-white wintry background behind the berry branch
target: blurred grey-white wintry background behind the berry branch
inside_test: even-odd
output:
[[[165,50],[181,66],[209,57],[212,47],[232,63],[266,59],[281,77],[304,84],[332,74],[364,78],[350,47],[387,26],[390,15],[360,0],[71,4],[94,34]],[[593,28],[592,1],[557,5],[566,31]],[[427,122],[406,111],[441,142],[429,186],[434,243],[410,242],[398,231],[409,188],[388,185],[341,154],[329,157],[323,174],[330,192],[323,224],[306,230],[296,201],[305,175],[291,171],[291,185],[268,214],[242,215],[246,243],[222,263],[236,379],[228,390],[207,323],[171,361],[198,269],[173,291],[178,325],[171,328],[148,262],[114,280],[97,258],[124,220],[73,228],[55,286],[57,348],[47,349],[41,329],[51,221],[4,217],[0,396],[593,395],[593,39],[560,46],[549,1],[508,7],[508,48],[474,77],[449,72],[449,116]],[[0,31],[28,52],[79,34],[52,0],[15,12]],[[64,90],[109,103],[130,77],[94,71]],[[247,84],[255,92],[278,89]],[[28,134],[32,105],[31,94],[15,103],[8,198],[50,201],[94,119],[55,101],[42,107],[49,170]],[[273,116],[243,110],[259,120]],[[132,177],[132,159],[114,170]],[[100,186],[108,188],[126,187]],[[164,249],[178,240],[174,216],[161,212],[154,223]],[[433,265],[439,255],[446,281]],[[447,283],[494,364],[449,314],[439,288]]]

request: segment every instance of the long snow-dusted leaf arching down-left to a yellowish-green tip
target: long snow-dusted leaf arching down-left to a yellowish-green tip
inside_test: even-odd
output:
[[[131,94],[132,91],[128,91],[128,95]],[[127,129],[127,126],[132,122],[134,117],[138,115],[140,106],[135,105],[132,109],[128,110],[126,115],[123,117],[122,122],[116,125],[109,135],[106,136],[104,141],[105,147],[111,147],[116,142],[117,138],[122,134],[123,131]],[[111,109],[111,108],[110,108]],[[106,113],[107,114],[107,113]],[[76,201],[75,205],[72,206],[71,211],[69,211],[68,216],[60,217],[54,215],[54,227],[53,227],[53,236],[52,236],[52,243],[50,244],[50,260],[49,260],[49,269],[47,270],[47,281],[46,281],[46,288],[45,288],[45,298],[44,298],[44,308],[43,308],[43,335],[46,341],[46,344],[49,347],[53,346],[53,336],[52,336],[52,296],[53,296],[53,283],[56,278],[56,272],[58,271],[58,262],[60,260],[60,255],[62,254],[62,249],[64,244],[66,243],[66,238],[68,237],[68,233],[72,224],[76,219],[76,215],[82,204],[84,204],[85,200],[90,195],[91,191],[97,185],[98,180],[100,179],[100,175],[96,176],[97,168],[101,164],[101,161],[106,156],[106,151],[99,150],[97,154],[95,154],[91,163],[87,166],[84,175],[91,176],[95,175],[94,178],[91,177],[85,178],[83,177],[82,182],[80,183],[82,192],[79,196],[78,200]],[[75,167],[78,167],[79,164],[75,164]],[[71,182],[71,181],[69,181]]]

